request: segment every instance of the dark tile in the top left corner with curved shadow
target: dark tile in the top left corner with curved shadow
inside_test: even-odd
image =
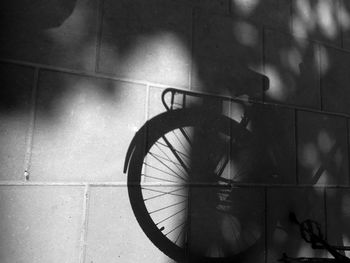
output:
[[[0,57],[94,69],[98,1],[15,3],[4,11]]]

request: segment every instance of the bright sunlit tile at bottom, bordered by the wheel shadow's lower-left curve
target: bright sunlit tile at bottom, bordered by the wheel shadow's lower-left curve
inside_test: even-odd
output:
[[[126,187],[93,187],[85,262],[174,261],[143,233],[131,209]]]

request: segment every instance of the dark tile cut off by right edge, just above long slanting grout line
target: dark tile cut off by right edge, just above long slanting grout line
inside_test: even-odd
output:
[[[323,109],[350,114],[350,53],[335,48],[323,48],[321,53],[321,92]]]

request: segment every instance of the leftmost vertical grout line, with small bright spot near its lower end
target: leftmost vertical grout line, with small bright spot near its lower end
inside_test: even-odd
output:
[[[30,113],[29,113],[29,122],[28,122],[28,130],[26,136],[26,152],[24,158],[24,174],[23,180],[30,180],[30,165],[31,165],[31,157],[32,157],[32,148],[33,148],[33,137],[34,137],[34,126],[35,126],[35,115],[36,115],[36,95],[38,90],[38,81],[39,81],[39,69],[36,68],[34,72],[34,81],[31,92],[30,99]]]

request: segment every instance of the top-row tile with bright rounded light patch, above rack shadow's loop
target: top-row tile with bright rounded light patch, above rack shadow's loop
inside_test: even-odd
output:
[[[191,8],[175,1],[105,1],[98,71],[188,86]]]

